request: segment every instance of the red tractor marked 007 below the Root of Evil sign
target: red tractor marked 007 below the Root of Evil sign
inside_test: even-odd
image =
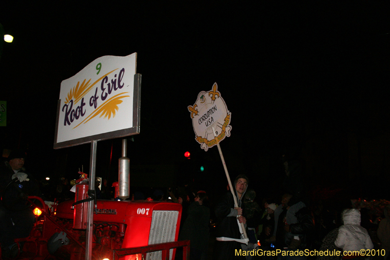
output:
[[[76,184],[75,201],[49,207],[39,197],[28,197],[39,210],[30,236],[18,239],[17,259],[84,260],[88,182]],[[38,203],[38,201],[40,203]],[[93,222],[92,259],[174,260],[175,248],[184,246],[189,255],[189,241],[177,242],[181,218],[178,203],[153,200],[96,200]],[[160,251],[156,251],[160,250]],[[137,254],[136,254],[137,253]]]

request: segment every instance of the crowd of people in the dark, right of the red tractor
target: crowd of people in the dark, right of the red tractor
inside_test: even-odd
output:
[[[286,158],[284,166],[286,176],[280,185],[284,192],[262,198],[262,202],[256,200],[249,178],[238,175],[232,185],[233,192],[227,191],[220,198],[214,198],[210,211],[197,212],[203,214],[202,218],[193,215],[190,207],[183,206],[183,212],[187,211],[188,215],[180,231],[186,236],[180,236],[180,239],[195,241],[186,228],[191,222],[191,230],[208,240],[210,235],[197,233],[197,226],[207,225],[205,215],[209,212],[216,222],[215,229],[211,226],[215,242],[202,243],[206,248],[198,247],[201,251],[196,250],[198,254],[191,259],[388,259],[389,201],[383,200],[374,213],[367,203],[357,203],[352,197],[312,201],[301,180],[299,161]],[[181,197],[187,197],[188,201],[185,193]],[[249,253],[258,249],[262,255]],[[291,252],[295,253],[291,255]]]

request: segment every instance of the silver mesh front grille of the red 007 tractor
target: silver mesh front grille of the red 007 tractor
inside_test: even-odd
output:
[[[175,241],[178,211],[155,210],[152,214],[148,244],[159,244]],[[169,250],[169,259],[172,260],[173,249]],[[146,254],[146,260],[160,260],[161,251]]]

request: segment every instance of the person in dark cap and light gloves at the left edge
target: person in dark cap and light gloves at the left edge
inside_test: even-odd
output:
[[[1,254],[9,258],[15,258],[19,252],[14,239],[28,237],[35,222],[33,211],[26,208],[26,201],[20,198],[20,191],[11,181],[18,179],[18,186],[25,194],[40,195],[38,182],[23,168],[25,158],[23,151],[14,150],[0,165]]]

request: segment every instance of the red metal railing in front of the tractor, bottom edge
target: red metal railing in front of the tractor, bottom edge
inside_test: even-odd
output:
[[[169,250],[172,248],[183,247],[183,260],[189,259],[190,256],[190,240],[153,244],[141,247],[130,247],[113,250],[113,260],[128,255],[141,254],[142,259],[146,259],[146,253],[161,251],[161,260],[169,259]]]

